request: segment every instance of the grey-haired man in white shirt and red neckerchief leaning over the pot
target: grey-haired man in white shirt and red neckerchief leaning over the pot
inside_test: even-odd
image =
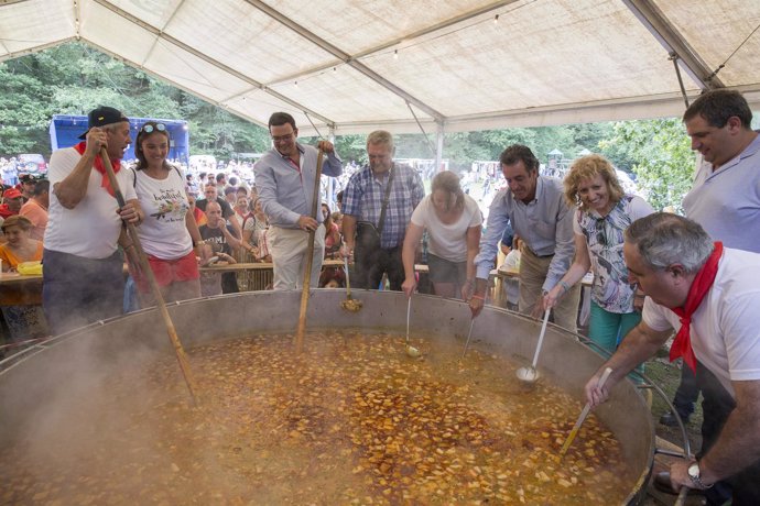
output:
[[[626,230],[626,265],[648,295],[642,321],[586,384],[591,406],[678,330],[671,360],[683,355],[696,375],[713,375],[726,409],[705,411],[718,431],[698,461],[671,465],[674,488],[732,486],[731,504],[760,504],[760,254],[713,242],[696,222],[654,213]],[[612,369],[602,388],[601,371]]]

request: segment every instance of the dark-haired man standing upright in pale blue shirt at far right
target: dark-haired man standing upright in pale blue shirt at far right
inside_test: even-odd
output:
[[[692,150],[702,157],[694,185],[683,199],[686,218],[726,248],[760,253],[760,136],[752,130],[749,103],[739,91],[713,89],[692,102],[683,121]],[[695,377],[691,369],[683,367],[673,405],[684,424],[694,413],[699,392],[703,414],[725,411],[730,396],[713,380],[709,374]],[[672,413],[663,415],[660,422],[677,425]],[[703,422],[701,430],[703,448],[697,457],[707,451],[720,427]],[[660,491],[673,491],[665,472],[655,476],[654,485]],[[708,505],[716,505],[730,495],[730,484],[719,483],[705,493],[705,498]]]

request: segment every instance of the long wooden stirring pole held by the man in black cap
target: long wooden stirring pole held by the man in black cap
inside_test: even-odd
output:
[[[111,188],[113,188],[113,196],[116,197],[117,202],[119,202],[119,207],[122,208],[126,204],[124,196],[121,193],[121,189],[119,188],[119,182],[116,179],[116,174],[113,173],[113,167],[111,166],[111,161],[108,157],[108,151],[106,150],[106,147],[100,148],[100,158],[102,158],[102,165],[104,167],[106,167],[108,180],[111,183]],[[169,315],[169,310],[166,309],[166,302],[164,301],[164,298],[161,295],[161,288],[159,288],[159,283],[155,280],[153,271],[151,270],[151,266],[148,263],[148,256],[145,255],[145,251],[142,249],[142,243],[140,243],[140,238],[138,237],[137,229],[132,223],[127,223],[127,230],[129,231],[129,235],[132,239],[132,244],[134,244],[134,250],[138,253],[140,268],[148,278],[148,284],[151,286],[151,292],[153,293],[153,297],[155,298],[155,302],[159,306],[161,317],[163,318],[164,324],[166,326],[166,332],[169,333],[169,339],[172,341],[172,345],[174,346],[174,352],[177,355],[177,362],[180,362],[180,369],[182,370],[182,375],[185,378],[187,389],[189,391],[191,396],[193,397],[193,403],[197,405],[198,396],[196,393],[197,391],[195,388],[195,380],[193,380],[193,373],[191,372],[189,364],[187,363],[185,350],[182,348],[180,337],[177,336],[177,332],[174,329],[174,322],[172,322],[172,317]]]

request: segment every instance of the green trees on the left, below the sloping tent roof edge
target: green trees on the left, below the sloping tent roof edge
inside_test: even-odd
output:
[[[112,106],[132,118],[185,119],[191,153],[231,158],[269,148],[265,129],[80,43],[0,64],[0,155],[50,155],[53,114]]]

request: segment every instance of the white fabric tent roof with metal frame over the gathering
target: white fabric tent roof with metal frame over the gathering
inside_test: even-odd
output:
[[[262,125],[450,132],[680,116],[674,57],[690,100],[758,108],[758,26],[757,0],[22,0],[0,61],[79,40]]]

